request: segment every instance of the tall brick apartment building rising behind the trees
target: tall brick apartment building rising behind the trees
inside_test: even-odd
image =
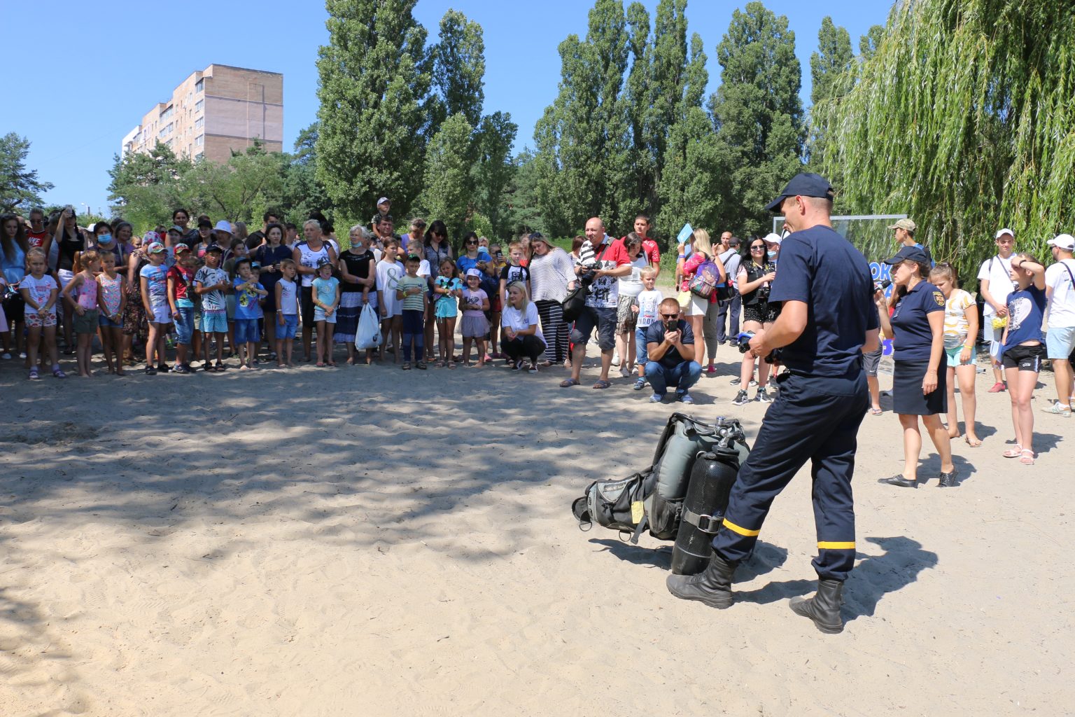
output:
[[[177,157],[223,162],[260,140],[284,149],[284,75],[227,64],[192,73],[124,138],[120,155],[148,153],[160,141]]]

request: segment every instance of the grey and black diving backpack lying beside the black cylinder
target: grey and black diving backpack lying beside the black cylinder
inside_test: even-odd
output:
[[[680,413],[669,416],[650,465],[626,478],[594,481],[575,499],[571,510],[579,529],[589,530],[584,526],[597,522],[630,534],[634,544],[647,528],[657,540],[675,540],[694,459],[712,451],[730,426],[722,420],[716,426],[705,424]],[[746,460],[746,443],[736,439],[736,447],[740,461]]]

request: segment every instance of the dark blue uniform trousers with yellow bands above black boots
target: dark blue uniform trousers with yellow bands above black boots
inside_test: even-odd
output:
[[[865,375],[851,378],[780,376],[750,456],[732,487],[713,549],[725,560],[746,559],[773,499],[806,461],[812,463],[814,522],[822,579],[847,579],[855,564],[851,474],[859,425],[870,405]]]

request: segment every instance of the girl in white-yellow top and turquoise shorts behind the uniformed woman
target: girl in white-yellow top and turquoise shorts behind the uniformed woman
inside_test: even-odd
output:
[[[938,263],[930,272],[930,284],[941,289],[945,298],[944,309],[944,352],[948,363],[948,435],[958,439],[959,418],[956,416],[956,381],[959,381],[959,396],[963,403],[963,422],[966,425],[966,445],[977,448],[981,445],[974,427],[977,399],[974,382],[977,367],[974,364],[974,341],[978,335],[978,307],[974,298],[956,287],[956,271],[950,263]]]

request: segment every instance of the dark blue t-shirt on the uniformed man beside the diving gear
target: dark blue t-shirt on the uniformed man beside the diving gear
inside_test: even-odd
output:
[[[815,382],[822,390],[825,378],[861,375],[862,342],[878,328],[877,306],[870,264],[850,242],[829,227],[788,234],[769,301],[806,304],[806,328],[780,353],[789,371],[822,379]]]

